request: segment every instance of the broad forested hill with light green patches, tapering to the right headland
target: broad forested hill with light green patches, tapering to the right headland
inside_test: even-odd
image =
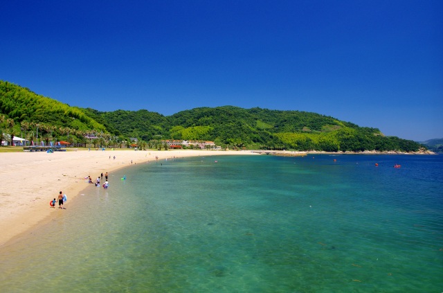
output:
[[[383,136],[377,128],[359,127],[311,112],[204,107],[179,112],[170,119],[174,126],[170,132],[172,139],[194,139],[190,135],[195,130],[201,133],[200,139],[238,148],[330,152],[420,148],[414,141]]]

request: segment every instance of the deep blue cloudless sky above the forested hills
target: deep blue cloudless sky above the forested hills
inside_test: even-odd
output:
[[[443,138],[443,1],[2,1],[0,80],[71,106],[234,105]]]

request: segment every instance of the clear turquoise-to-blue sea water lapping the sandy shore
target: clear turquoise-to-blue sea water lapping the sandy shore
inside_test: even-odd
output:
[[[178,158],[109,183],[3,247],[0,292],[443,292],[441,155]]]

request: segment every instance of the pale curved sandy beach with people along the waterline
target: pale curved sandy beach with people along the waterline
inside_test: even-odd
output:
[[[253,154],[246,151],[213,150],[70,150],[68,152],[0,153],[0,247],[36,225],[69,211],[69,202],[100,173],[111,174],[132,164],[173,157]],[[114,159],[114,156],[116,157]],[[104,182],[103,177],[102,182]],[[66,210],[49,206],[58,193],[66,194]]]

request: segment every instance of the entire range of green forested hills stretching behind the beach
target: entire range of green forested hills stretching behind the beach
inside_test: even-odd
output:
[[[418,151],[423,145],[414,141],[384,136],[377,128],[359,127],[330,116],[311,112],[280,111],[261,108],[200,107],[172,116],[159,113],[70,107],[29,89],[0,81],[0,127],[17,131],[46,125],[46,134],[84,142],[93,135],[100,145],[118,145],[137,138],[141,142],[165,139],[215,141],[228,148],[267,150]],[[16,126],[4,121],[14,121]],[[1,121],[0,121],[1,123]],[[48,127],[48,125],[52,125]],[[32,128],[31,127],[31,128]],[[20,127],[19,127],[20,128]],[[74,134],[69,136],[69,132]]]

